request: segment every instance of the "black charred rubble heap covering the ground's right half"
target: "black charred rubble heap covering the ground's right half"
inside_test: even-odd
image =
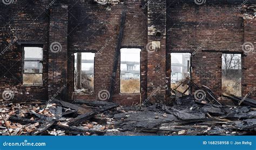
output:
[[[157,135],[251,135],[256,131],[256,113],[251,106],[202,103],[183,96],[173,106],[157,104],[141,112],[114,115],[120,131]],[[167,117],[161,118],[166,113]],[[159,117],[156,119],[155,117]],[[122,118],[122,119],[121,119]]]

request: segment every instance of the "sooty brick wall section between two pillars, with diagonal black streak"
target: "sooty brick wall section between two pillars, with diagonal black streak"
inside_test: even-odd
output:
[[[70,52],[95,52],[94,92],[92,95],[73,94],[73,64],[69,64],[68,92],[73,99],[99,100],[98,93],[110,89],[114,52],[117,45],[122,10],[127,10],[122,47],[140,48],[141,51],[141,94],[146,98],[147,66],[147,10],[140,7],[140,1],[126,1],[125,4],[106,6],[88,2],[74,3],[69,15]],[[72,58],[73,59],[73,58]],[[72,61],[71,61],[72,62]],[[113,100],[132,105],[140,100],[140,94],[121,94],[119,65]]]

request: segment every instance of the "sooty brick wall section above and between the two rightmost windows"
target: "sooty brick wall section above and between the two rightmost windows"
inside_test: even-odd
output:
[[[223,53],[241,53],[242,45],[255,42],[253,27],[244,28],[242,3],[197,5],[191,3],[167,3],[167,55],[172,52],[190,52],[192,79],[198,85],[206,85],[221,96],[221,56]],[[255,27],[255,26],[254,26]],[[248,29],[247,29],[248,28]],[[247,33],[245,33],[247,31]],[[170,59],[167,59],[168,62]],[[253,80],[255,56],[245,58],[245,66],[251,68],[243,74]],[[242,60],[244,61],[244,59]],[[251,62],[251,63],[249,63]],[[167,63],[170,66],[170,63]],[[243,70],[244,71],[244,70]],[[249,73],[250,72],[250,73]],[[251,77],[249,77],[251,76]],[[249,84],[253,88],[255,83]],[[253,94],[252,94],[253,95]],[[254,93],[255,97],[255,93]]]

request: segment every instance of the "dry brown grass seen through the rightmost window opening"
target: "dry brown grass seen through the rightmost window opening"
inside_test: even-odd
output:
[[[226,94],[234,94],[235,96],[241,96],[241,82],[240,80],[230,80],[223,78],[222,90]]]

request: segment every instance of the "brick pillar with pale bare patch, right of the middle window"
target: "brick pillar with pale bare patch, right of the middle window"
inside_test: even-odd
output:
[[[166,0],[148,1],[147,8],[147,98],[165,101]]]

